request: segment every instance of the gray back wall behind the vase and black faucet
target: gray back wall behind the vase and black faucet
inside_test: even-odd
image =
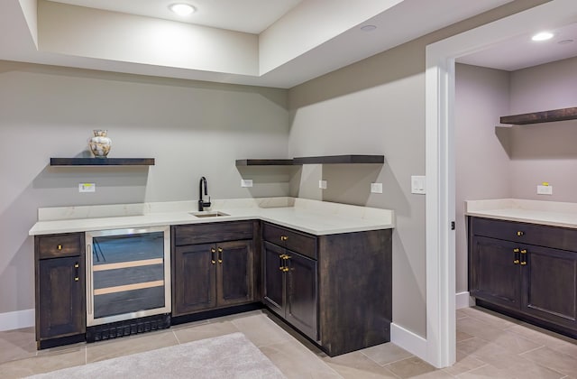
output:
[[[151,168],[52,168],[50,157],[87,149],[108,129],[110,157],[153,157]],[[36,209],[197,199],[206,176],[215,199],[287,196],[289,176],[234,160],[284,157],[287,90],[155,79],[0,61],[0,313],[33,308]],[[79,194],[78,183],[96,182]]]

